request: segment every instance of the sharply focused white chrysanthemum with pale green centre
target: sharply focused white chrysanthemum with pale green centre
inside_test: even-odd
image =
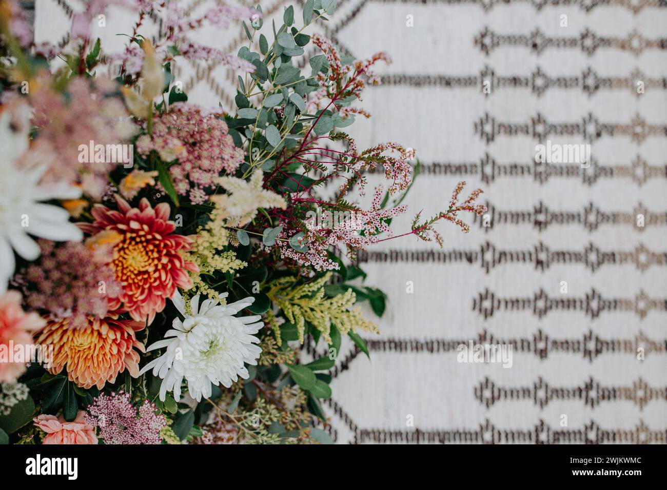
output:
[[[226,297],[221,295],[221,297]],[[192,313],[186,313],[185,301],[176,291],[171,298],[184,321],[174,319],[173,329],[165,333],[165,339],[148,347],[148,351],[167,347],[167,351],[141,369],[139,375],[153,368],[153,375],[162,379],[160,399],[167,391],[181,398],[181,383],[187,381],[190,396],[201,401],[211,396],[211,383],[230,387],[238,377],[247,379],[244,363],[257,365],[261,349],[255,345],[257,333],[263,322],[261,315],[235,317],[249,307],[254,298],[247,297],[229,305],[219,305],[215,299],[207,299],[199,305],[199,295],[190,301]],[[169,338],[167,338],[169,337]]]

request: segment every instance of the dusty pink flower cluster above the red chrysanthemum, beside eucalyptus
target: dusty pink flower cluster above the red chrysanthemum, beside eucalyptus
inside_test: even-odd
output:
[[[139,137],[136,148],[144,156],[155,150],[166,161],[177,157],[169,167],[174,187],[195,204],[207,199],[206,191],[215,188],[222,171],[233,174],[244,156],[234,145],[221,113],[206,113],[201,107],[181,103],[156,117],[153,136]]]

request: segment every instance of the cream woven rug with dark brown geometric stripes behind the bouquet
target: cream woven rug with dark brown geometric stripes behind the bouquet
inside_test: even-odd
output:
[[[315,26],[356,57],[394,59],[366,91],[372,119],[351,132],[360,147],[417,149],[422,175],[396,233],[445,209],[459,180],[489,207],[468,235],[437,225],[443,249],[406,237],[360,256],[388,311],[366,335],[370,361],[344,344],[331,371],[336,441],[667,442],[666,6],[342,0]],[[79,8],[38,1],[37,40],[63,38]],[[118,43],[130,27],[114,11],[98,33]],[[243,39],[201,37],[231,53]],[[177,79],[191,101],[232,108],[226,69],[181,63]],[[589,143],[590,167],[536,163],[547,140]],[[458,362],[468,341],[511,344],[512,367]]]

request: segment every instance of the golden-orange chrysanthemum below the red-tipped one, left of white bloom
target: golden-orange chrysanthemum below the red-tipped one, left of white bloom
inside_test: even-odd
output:
[[[56,375],[67,369],[67,378],[82,388],[115,383],[125,371],[139,376],[139,353],[145,352],[135,332],[143,329],[141,321],[91,317],[88,327],[73,329],[69,319],[51,321],[37,334],[37,343],[53,346],[53,363],[47,368]]]

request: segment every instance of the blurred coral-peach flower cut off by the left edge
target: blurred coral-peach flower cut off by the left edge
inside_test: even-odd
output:
[[[17,291],[0,295],[0,383],[15,381],[25,371],[25,363],[10,361],[10,341],[13,345],[32,345],[31,332],[41,329],[44,323],[37,313],[21,309],[21,294]]]

